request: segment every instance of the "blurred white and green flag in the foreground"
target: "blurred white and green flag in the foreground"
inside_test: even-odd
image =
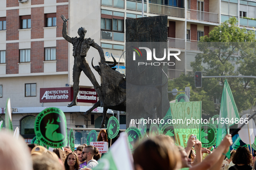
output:
[[[133,170],[133,157],[128,150],[126,140],[127,136],[121,133],[93,170]]]

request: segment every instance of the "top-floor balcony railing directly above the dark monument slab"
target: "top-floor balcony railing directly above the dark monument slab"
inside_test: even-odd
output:
[[[154,4],[154,3],[149,3],[149,13],[185,18],[185,9],[184,8],[159,5],[159,4]]]

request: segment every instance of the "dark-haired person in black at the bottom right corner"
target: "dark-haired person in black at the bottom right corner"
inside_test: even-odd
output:
[[[253,156],[250,154],[248,148],[240,146],[237,148],[236,153],[233,155],[232,159],[234,166],[230,167],[228,170],[252,170],[253,167]]]

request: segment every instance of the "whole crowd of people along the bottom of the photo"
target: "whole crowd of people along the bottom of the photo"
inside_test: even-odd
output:
[[[98,140],[107,141],[102,130]],[[202,148],[201,142],[191,135],[186,148],[176,146],[167,135],[156,135],[140,143],[133,153],[134,170],[254,170],[254,155],[246,147],[226,153],[232,145],[226,135],[217,148]],[[0,170],[91,170],[100,160],[98,148],[80,145],[74,152],[66,146],[47,150],[35,144],[27,145],[24,139],[13,138],[0,132]],[[126,160],[123,160],[126,161]]]

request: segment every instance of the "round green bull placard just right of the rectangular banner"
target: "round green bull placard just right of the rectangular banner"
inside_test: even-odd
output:
[[[216,143],[217,129],[211,124],[202,124],[201,126],[201,142],[202,147],[208,148]]]

